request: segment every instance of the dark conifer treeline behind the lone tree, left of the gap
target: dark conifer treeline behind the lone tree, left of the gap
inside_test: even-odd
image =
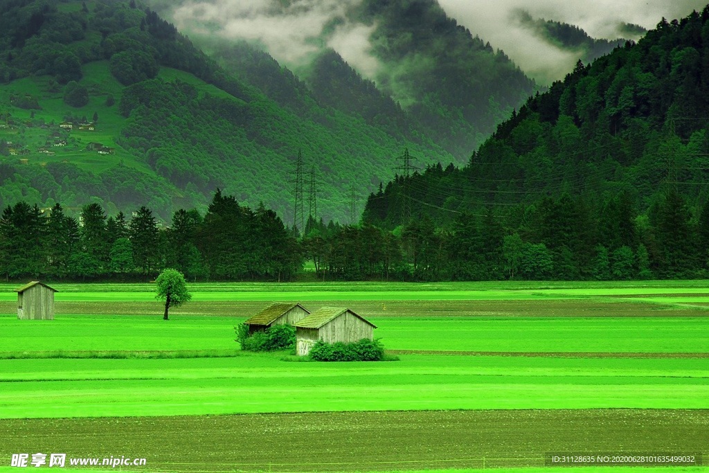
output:
[[[128,219],[99,204],[79,219],[19,202],[0,218],[6,279],[152,279],[164,267],[189,279],[288,280],[301,267],[298,244],[274,211],[240,206],[217,191],[204,216],[181,209],[160,230],[149,208]]]

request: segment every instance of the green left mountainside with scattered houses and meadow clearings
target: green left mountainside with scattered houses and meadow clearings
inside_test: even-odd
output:
[[[361,78],[354,95],[401,126],[333,106],[269,58],[259,80],[235,76],[135,1],[3,0],[0,18],[3,206],[147,205],[168,220],[220,188],[292,223],[301,154],[318,168],[318,217],[346,221],[353,189],[392,177],[405,148],[423,165],[455,160]]]

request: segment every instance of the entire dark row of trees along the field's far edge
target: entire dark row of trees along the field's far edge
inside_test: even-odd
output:
[[[516,216],[459,213],[447,225],[422,214],[393,230],[310,221],[296,239],[274,211],[252,211],[220,191],[204,215],[181,209],[164,229],[145,206],[127,218],[88,204],[77,220],[60,204],[43,212],[19,202],[0,218],[0,268],[6,279],[84,280],[152,279],[172,267],[193,280],[284,281],[306,260],[320,280],[708,274],[709,205],[693,217],[674,191],[647,216],[635,213],[627,193],[598,211],[569,194],[518,210]]]

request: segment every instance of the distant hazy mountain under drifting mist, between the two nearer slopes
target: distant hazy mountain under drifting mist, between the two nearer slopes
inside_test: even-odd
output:
[[[333,11],[318,2],[281,1],[250,8],[229,4],[243,18],[206,1],[152,0],[151,5],[169,18],[179,18],[185,31],[216,50],[215,57],[230,72],[252,77],[249,60],[240,57],[245,47],[235,45],[230,52],[228,43],[242,41],[234,38],[258,43],[253,25],[288,28],[302,23],[308,37],[291,50],[313,50],[296,69],[318,103],[357,113],[377,127],[392,125],[397,133],[408,130],[428,138],[461,164],[537,89],[504,52],[459,26],[436,0],[347,1]],[[316,10],[318,6],[324,10]],[[205,13],[217,11],[219,16]],[[328,20],[321,27],[310,26],[311,16]],[[233,26],[240,22],[242,30]],[[273,34],[277,32],[269,30]],[[220,36],[220,46],[213,48],[214,38]],[[278,42],[281,47],[283,41]],[[340,43],[346,46],[338,50]],[[352,60],[359,69],[342,59],[347,59],[345,52],[352,55],[351,50],[358,51]],[[254,79],[252,84],[261,87],[259,82]]]

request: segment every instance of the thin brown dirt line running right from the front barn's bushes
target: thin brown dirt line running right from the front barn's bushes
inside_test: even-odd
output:
[[[391,355],[462,355],[473,357],[547,357],[547,358],[709,358],[709,353],[661,352],[465,352],[450,350],[386,350]]]

